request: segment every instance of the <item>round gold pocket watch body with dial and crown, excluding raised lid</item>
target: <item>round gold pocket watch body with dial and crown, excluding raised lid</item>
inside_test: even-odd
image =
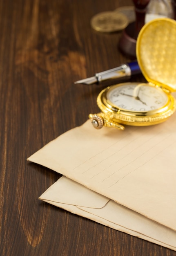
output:
[[[151,83],[112,85],[98,94],[97,104],[101,112],[89,115],[96,129],[107,126],[124,130],[124,124],[160,124],[176,111],[176,99],[172,94]]]

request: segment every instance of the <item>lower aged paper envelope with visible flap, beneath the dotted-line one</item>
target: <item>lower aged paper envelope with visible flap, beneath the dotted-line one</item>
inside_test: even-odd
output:
[[[176,250],[176,232],[62,176],[40,199],[98,223]]]

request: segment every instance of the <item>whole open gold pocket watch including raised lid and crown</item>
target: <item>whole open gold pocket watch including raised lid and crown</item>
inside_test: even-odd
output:
[[[158,18],[145,24],[136,56],[148,83],[120,83],[102,90],[97,98],[102,112],[89,115],[95,128],[159,124],[176,110],[171,94],[176,91],[176,21]]]

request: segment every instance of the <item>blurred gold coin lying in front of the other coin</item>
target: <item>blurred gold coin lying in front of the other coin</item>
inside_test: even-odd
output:
[[[101,32],[114,32],[127,27],[128,20],[123,13],[105,11],[91,18],[91,27]]]

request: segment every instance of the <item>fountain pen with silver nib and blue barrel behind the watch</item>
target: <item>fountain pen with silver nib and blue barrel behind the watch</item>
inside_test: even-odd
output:
[[[103,81],[114,81],[121,80],[123,78],[129,79],[132,75],[140,74],[140,67],[137,61],[132,61],[126,64],[122,64],[119,67],[115,67],[110,70],[106,70],[100,73],[96,73],[94,76],[91,76],[86,79],[82,79],[74,82],[74,84],[83,83],[87,85],[99,84]]]

